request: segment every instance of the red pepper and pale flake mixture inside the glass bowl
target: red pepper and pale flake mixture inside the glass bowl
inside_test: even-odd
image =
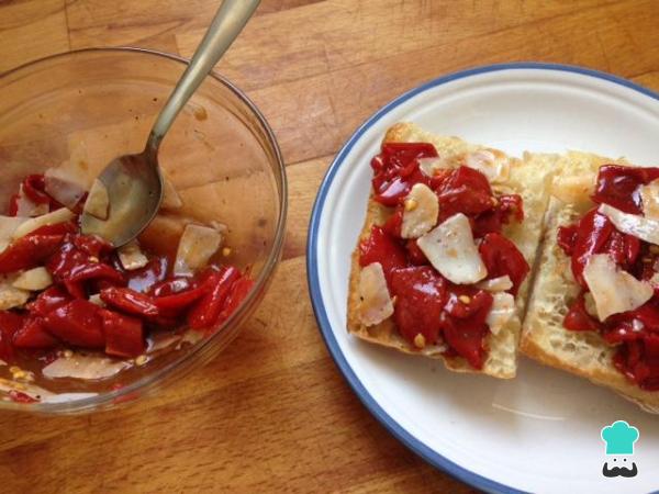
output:
[[[62,205],[64,170],[58,189],[49,188],[46,171],[25,178],[19,192],[57,209],[0,217],[8,225],[0,252],[0,353],[14,373],[37,382],[115,378],[163,353],[157,339],[180,346],[190,332],[212,334],[247,297],[254,284],[248,272],[219,260],[222,248],[231,249],[221,228],[185,225],[175,259],[143,250],[137,240],[115,249],[80,234],[74,210]],[[167,190],[166,201],[182,203],[174,186]],[[93,189],[82,197],[99,204]],[[40,353],[48,353],[46,361]],[[16,390],[25,388],[12,378]]]

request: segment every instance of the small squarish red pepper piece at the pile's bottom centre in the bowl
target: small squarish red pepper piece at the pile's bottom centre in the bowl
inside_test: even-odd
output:
[[[113,311],[100,310],[105,335],[105,353],[116,357],[137,357],[144,353],[142,321]]]

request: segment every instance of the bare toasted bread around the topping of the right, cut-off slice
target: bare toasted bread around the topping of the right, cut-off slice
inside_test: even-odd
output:
[[[659,393],[630,383],[613,366],[615,348],[599,334],[563,327],[570,303],[579,294],[570,258],[557,245],[557,229],[572,224],[593,207],[590,195],[601,165],[612,160],[584,153],[568,153],[557,162],[538,272],[524,319],[521,351],[545,364],[562,369],[595,384],[612,388],[649,412],[659,412]],[[557,199],[556,195],[560,197]]]

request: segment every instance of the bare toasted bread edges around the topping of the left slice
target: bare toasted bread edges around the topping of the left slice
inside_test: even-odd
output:
[[[457,137],[436,136],[424,132],[417,125],[411,123],[399,123],[387,132],[386,143],[432,143],[446,167],[457,167],[463,164],[465,155],[479,149],[488,149],[484,146],[468,144]],[[498,151],[500,153],[500,151]],[[510,161],[510,177],[502,184],[493,184],[493,189],[500,193],[517,193],[524,201],[525,220],[522,224],[512,223],[504,228],[504,235],[513,240],[524,255],[529,266],[533,266],[541,236],[543,215],[548,203],[548,190],[550,177],[555,169],[556,155],[525,155],[523,159],[507,158]],[[392,209],[382,206],[371,197],[368,202],[366,221],[359,236],[359,242],[368,238],[372,225],[382,225],[392,213]],[[446,367],[459,372],[477,372],[461,357],[447,358],[442,356],[444,348],[426,347],[416,349],[405,340],[398,332],[393,318],[390,317],[382,323],[367,327],[360,321],[359,311],[359,251],[355,249],[350,270],[349,294],[348,294],[348,330],[355,336],[396,350],[423,355],[426,357],[443,359]],[[510,379],[515,377],[516,355],[520,340],[521,321],[526,306],[529,279],[522,284],[516,296],[517,317],[513,317],[496,335],[489,334],[487,338],[488,358],[484,362],[482,373]]]

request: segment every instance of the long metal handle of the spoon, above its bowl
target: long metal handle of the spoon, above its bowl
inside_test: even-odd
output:
[[[146,143],[148,153],[154,156],[157,154],[160,141],[169,131],[178,113],[243,31],[259,2],[260,0],[224,0],[222,2],[197,52],[192,55],[188,68],[156,119]]]

